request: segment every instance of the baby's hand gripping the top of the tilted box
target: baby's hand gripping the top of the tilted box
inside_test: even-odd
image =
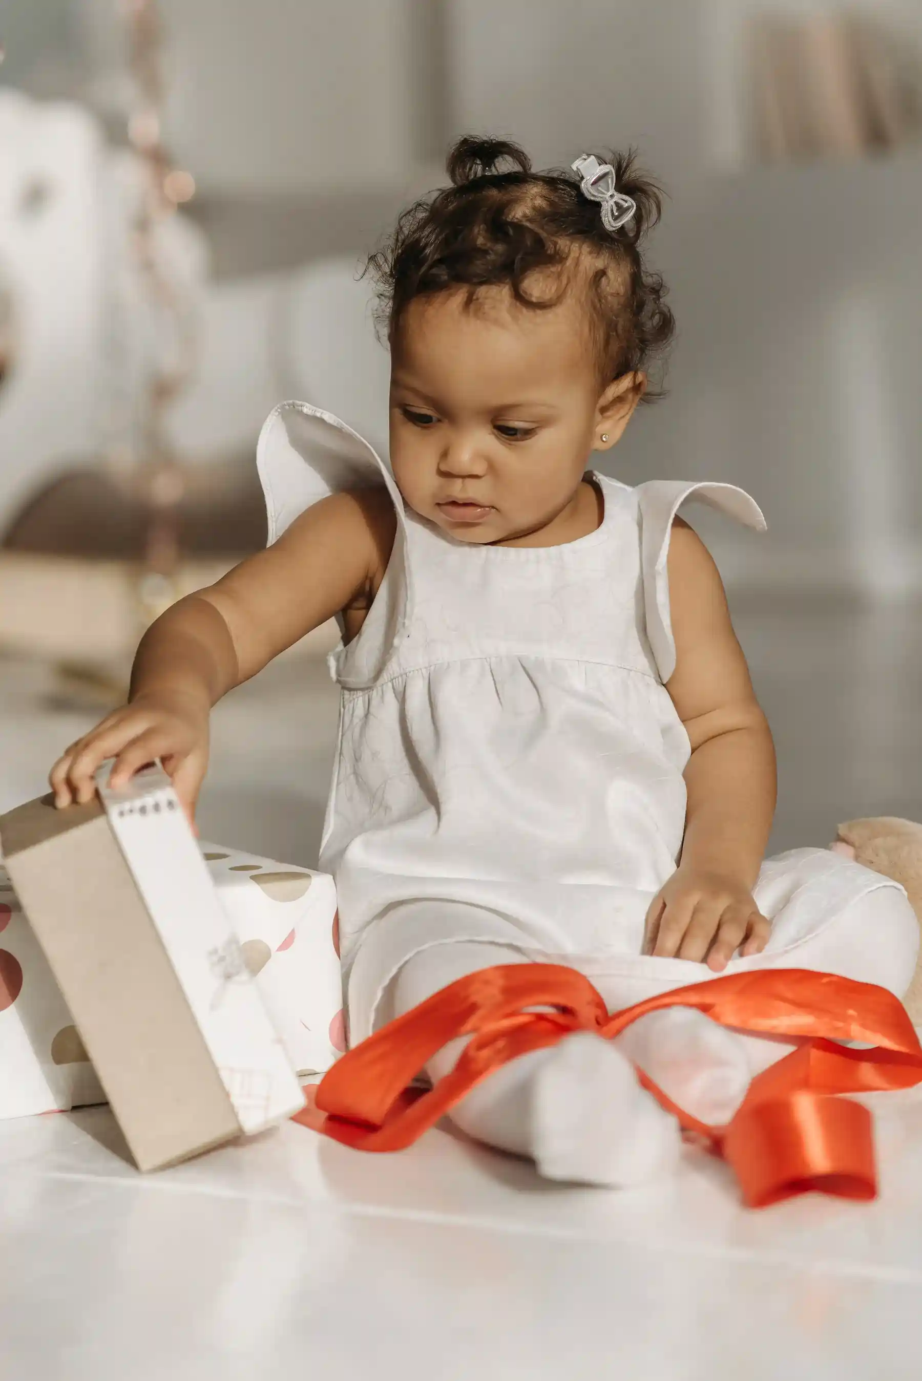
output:
[[[147,692],[109,714],[83,739],[72,743],[48,778],[57,807],[84,804],[95,794],[94,773],[115,758],[112,786],[124,786],[140,768],[163,761],[189,820],[209,760],[209,707],[196,696],[176,690]]]

